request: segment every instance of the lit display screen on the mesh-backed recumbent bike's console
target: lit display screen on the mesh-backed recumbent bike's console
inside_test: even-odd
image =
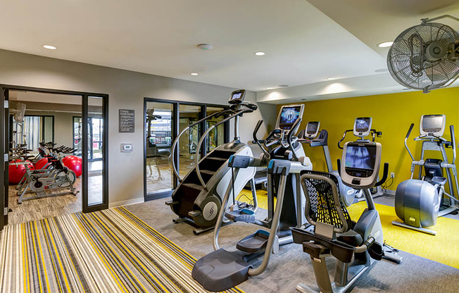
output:
[[[346,168],[353,169],[353,175],[356,177],[367,177],[367,170],[375,169],[376,146],[347,146],[346,147]],[[359,173],[358,170],[362,172]],[[360,174],[360,175],[359,175]]]

